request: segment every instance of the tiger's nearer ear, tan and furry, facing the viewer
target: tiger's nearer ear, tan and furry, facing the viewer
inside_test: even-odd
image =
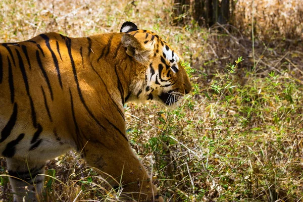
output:
[[[126,47],[126,54],[133,57],[136,61],[142,65],[148,65],[150,51],[145,48],[134,36],[130,34],[124,34],[121,42]]]

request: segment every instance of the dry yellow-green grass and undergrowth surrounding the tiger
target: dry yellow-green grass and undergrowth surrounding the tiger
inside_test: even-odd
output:
[[[180,108],[125,108],[131,145],[167,200],[302,201],[302,1],[241,0],[233,26],[208,29],[171,26],[170,1],[4,0],[0,11],[1,42],[116,32],[133,21],[184,53],[194,89]],[[41,201],[118,200],[73,152],[46,169]],[[12,201],[9,188],[0,176],[0,201]]]

